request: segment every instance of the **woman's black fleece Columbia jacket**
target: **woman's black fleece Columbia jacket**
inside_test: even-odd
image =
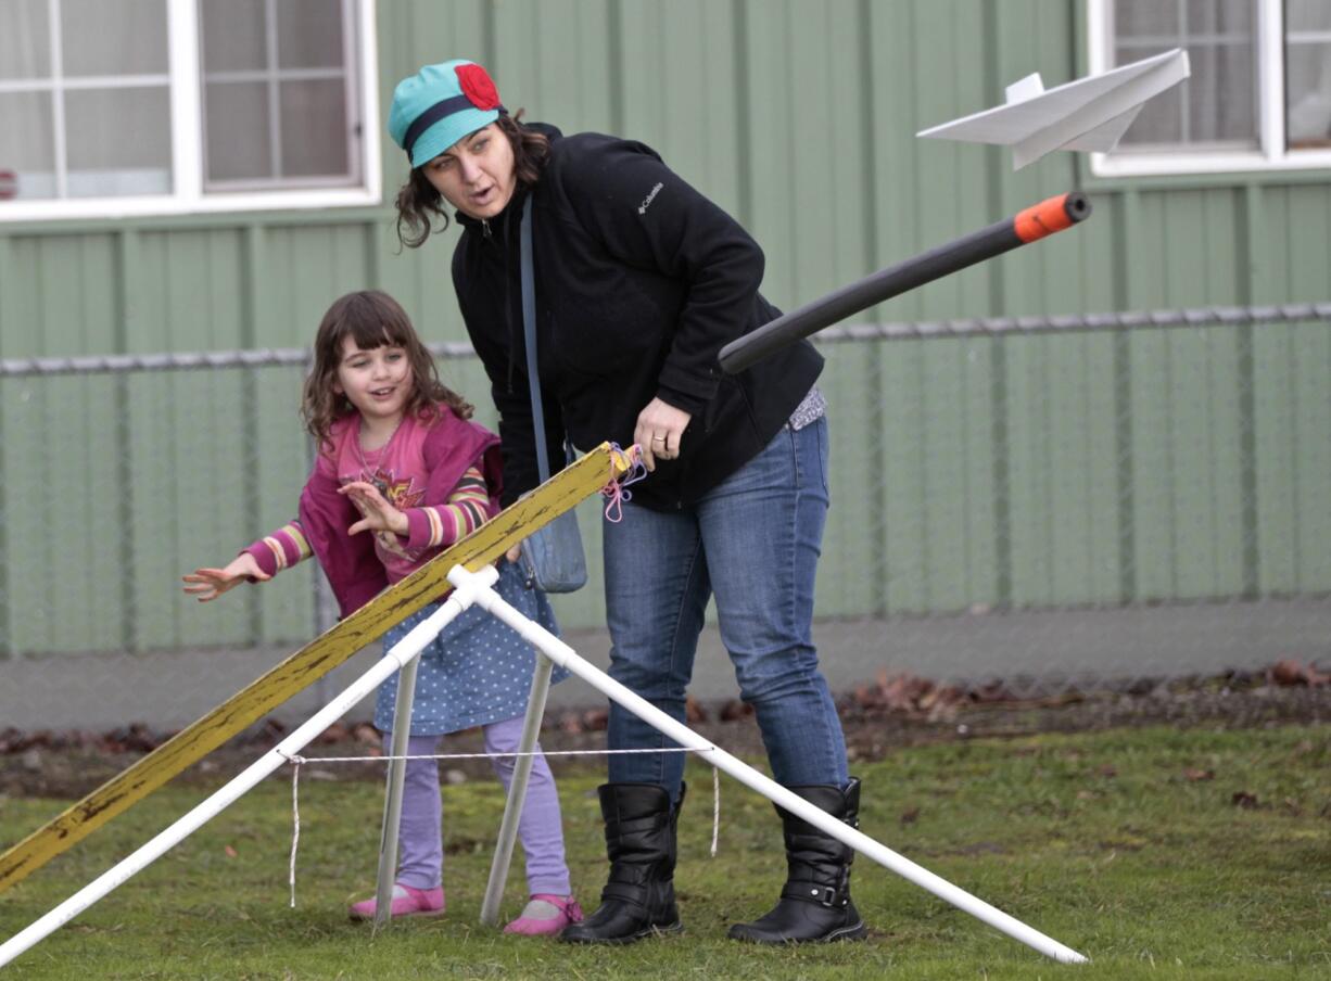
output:
[[[692,415],[638,503],[687,507],[757,455],[813,386],[823,358],[792,345],[739,375],[716,355],[780,314],[759,293],[763,252],[650,148],[599,133],[551,137],[540,180],[488,221],[459,214],[453,282],[499,410],[508,504],[539,483],[518,258],[532,196],[536,350],[550,459],[628,446],[654,397]]]

